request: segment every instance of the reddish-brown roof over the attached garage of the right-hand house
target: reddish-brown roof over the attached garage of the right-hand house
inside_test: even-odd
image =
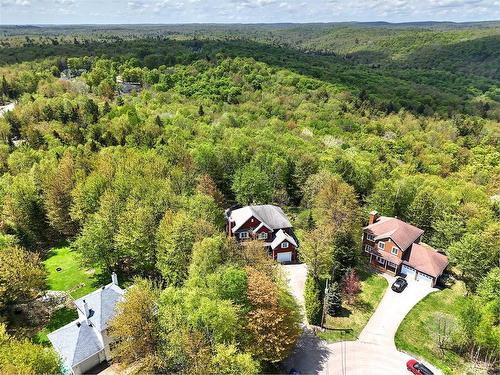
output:
[[[448,257],[424,243],[414,243],[403,263],[433,277],[439,277],[448,265]]]

